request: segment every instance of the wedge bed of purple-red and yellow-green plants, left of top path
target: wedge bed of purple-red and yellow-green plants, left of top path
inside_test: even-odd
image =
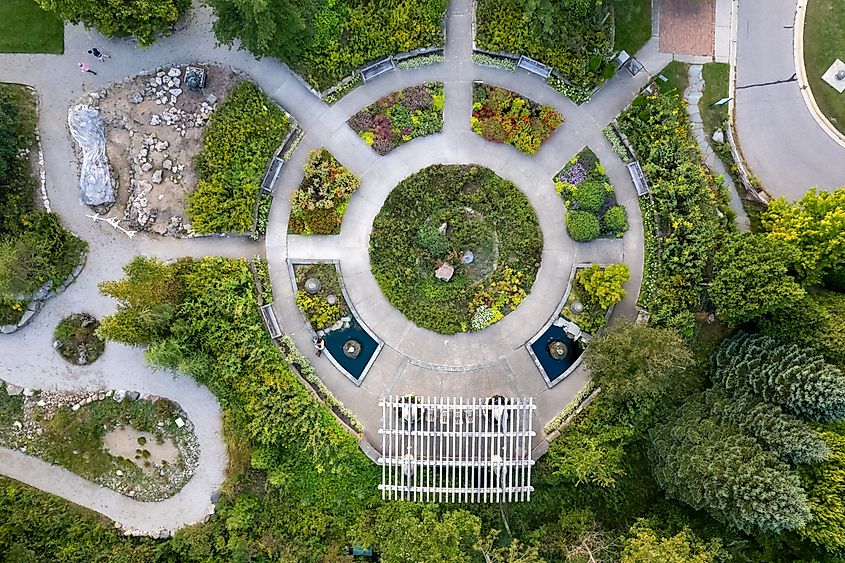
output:
[[[349,118],[349,126],[379,154],[443,130],[443,84],[430,82],[393,92]]]

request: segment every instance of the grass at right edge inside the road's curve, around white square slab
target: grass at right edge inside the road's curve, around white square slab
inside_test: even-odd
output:
[[[845,0],[810,0],[804,22],[804,64],[819,109],[845,133],[845,92],[821,79],[837,58],[845,60]]]

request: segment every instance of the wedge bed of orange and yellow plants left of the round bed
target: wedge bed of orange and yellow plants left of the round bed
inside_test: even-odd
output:
[[[305,176],[291,196],[288,232],[296,235],[336,235],[358,177],[326,149],[314,149],[305,162]]]

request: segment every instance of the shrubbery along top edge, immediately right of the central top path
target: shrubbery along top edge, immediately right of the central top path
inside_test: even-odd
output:
[[[613,19],[601,0],[480,0],[478,46],[527,55],[593,88],[613,76]]]

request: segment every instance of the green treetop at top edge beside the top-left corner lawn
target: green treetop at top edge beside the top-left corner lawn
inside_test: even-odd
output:
[[[35,0],[43,9],[71,23],[83,23],[106,36],[134,35],[152,45],[191,7],[190,0]]]

